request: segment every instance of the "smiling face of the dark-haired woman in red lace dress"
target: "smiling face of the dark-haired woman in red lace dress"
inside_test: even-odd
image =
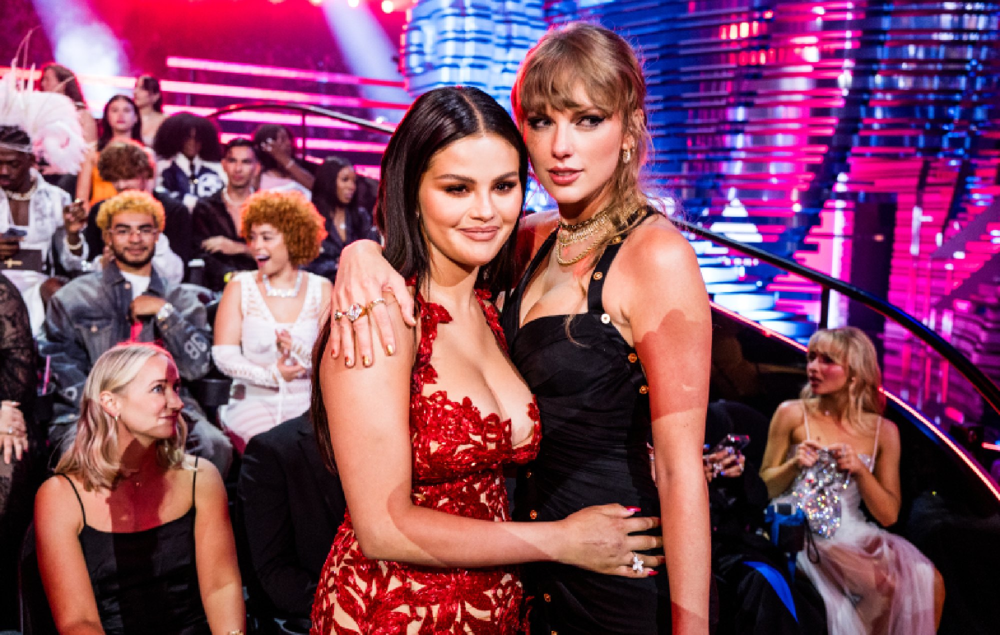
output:
[[[517,150],[494,134],[465,137],[431,158],[418,200],[432,270],[472,270],[496,257],[521,213],[518,165]]]

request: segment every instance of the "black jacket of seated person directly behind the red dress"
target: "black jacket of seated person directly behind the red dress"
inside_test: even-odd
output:
[[[308,617],[346,507],[340,479],[320,458],[308,413],[250,440],[238,492],[261,588],[281,613]]]

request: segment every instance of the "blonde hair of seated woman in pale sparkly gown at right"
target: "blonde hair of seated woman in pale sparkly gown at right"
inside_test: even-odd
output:
[[[821,329],[809,338],[809,352],[822,353],[847,371],[848,423],[862,434],[874,434],[875,422],[865,421],[863,414],[882,415],[885,395],[882,393],[882,371],[878,366],[875,345],[860,329],[843,326]],[[799,395],[803,401],[817,398],[812,387],[806,384]],[[877,420],[876,420],[877,421]]]

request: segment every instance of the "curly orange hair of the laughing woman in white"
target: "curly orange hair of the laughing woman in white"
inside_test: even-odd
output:
[[[294,267],[315,260],[326,238],[326,222],[301,192],[257,192],[243,204],[240,215],[241,234],[248,241],[254,225],[267,224],[277,229],[285,239],[288,260]]]

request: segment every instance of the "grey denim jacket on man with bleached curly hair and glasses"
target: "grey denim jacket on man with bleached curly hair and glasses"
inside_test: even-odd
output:
[[[173,305],[174,312],[164,319],[149,319],[138,340],[159,340],[173,355],[182,378],[203,377],[211,364],[212,337],[205,305],[195,291],[168,285],[154,267],[144,295],[163,298]],[[49,440],[57,446],[68,428],[76,424],[83,385],[97,358],[129,340],[131,304],[130,283],[115,263],[76,278],[52,296],[39,351],[52,358],[51,379],[58,398]]]

